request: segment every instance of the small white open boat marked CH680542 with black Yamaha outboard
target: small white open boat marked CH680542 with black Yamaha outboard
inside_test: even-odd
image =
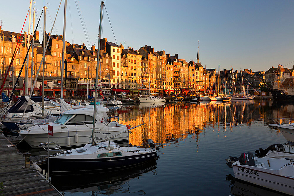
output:
[[[242,153],[240,157],[226,159],[234,171],[235,178],[293,195],[294,160],[253,157],[253,153]]]

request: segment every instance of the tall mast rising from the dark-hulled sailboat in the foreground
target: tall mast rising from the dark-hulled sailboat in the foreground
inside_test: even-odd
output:
[[[95,93],[94,93],[94,114],[93,114],[93,129],[92,129],[92,145],[94,145],[94,130],[96,124],[96,94],[97,94],[97,85],[98,85],[98,68],[99,68],[99,55],[100,55],[100,41],[101,41],[101,29],[102,29],[102,12],[103,12],[104,0],[101,1],[100,5],[100,23],[99,23],[99,36],[98,36],[98,50],[97,50],[97,65],[96,65],[96,79],[95,79]],[[101,65],[100,65],[101,66]]]

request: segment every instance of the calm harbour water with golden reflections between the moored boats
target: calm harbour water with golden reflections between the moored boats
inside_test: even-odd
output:
[[[120,172],[52,178],[59,191],[65,195],[240,195],[245,188],[269,195],[272,192],[243,183],[230,185],[226,175],[233,175],[233,170],[225,158],[285,143],[283,135],[268,126],[273,123],[268,118],[293,118],[294,106],[269,100],[159,103],[123,106],[115,115],[126,125],[145,123],[132,130],[130,143],[141,145],[153,139],[161,146],[160,159]]]

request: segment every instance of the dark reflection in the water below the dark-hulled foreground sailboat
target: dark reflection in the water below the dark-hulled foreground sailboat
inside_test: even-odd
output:
[[[51,181],[52,185],[64,195],[73,193],[87,195],[136,193],[137,195],[144,195],[144,190],[130,190],[129,181],[135,178],[139,179],[147,172],[156,175],[156,160],[116,172],[54,176],[51,177]],[[127,184],[127,188],[122,187],[125,184]]]

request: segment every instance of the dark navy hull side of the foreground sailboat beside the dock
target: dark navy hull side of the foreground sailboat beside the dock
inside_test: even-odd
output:
[[[142,163],[156,160],[156,151],[144,153],[141,155],[134,155],[128,157],[108,157],[95,159],[72,159],[72,158],[49,158],[49,172],[51,175],[65,175],[73,173],[87,173],[87,172],[108,172],[133,167]]]

